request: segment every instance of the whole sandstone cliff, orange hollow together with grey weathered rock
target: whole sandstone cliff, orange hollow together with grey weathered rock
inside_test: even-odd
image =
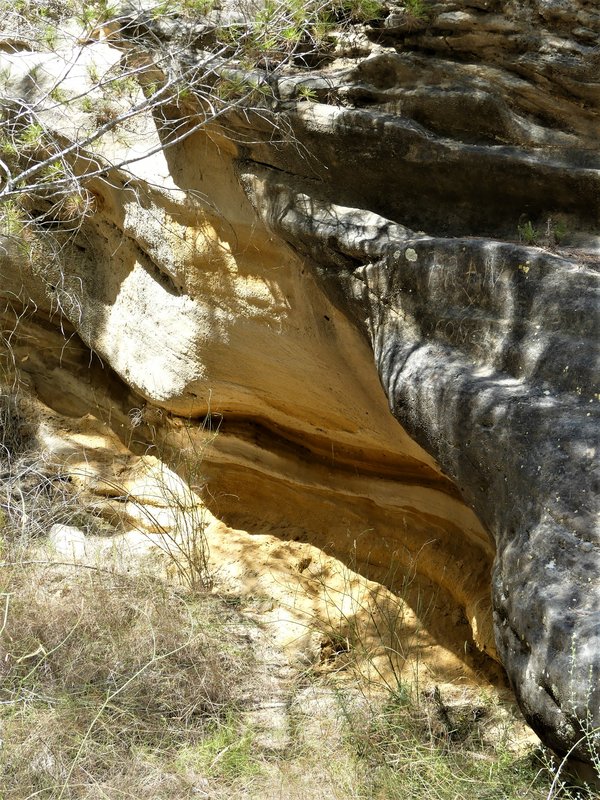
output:
[[[217,516],[436,586],[435,635],[458,653],[464,614],[560,753],[600,721],[595,5],[390,8],[0,263],[42,399],[117,432],[141,409],[171,447],[218,418]],[[43,332],[61,315],[102,368]]]

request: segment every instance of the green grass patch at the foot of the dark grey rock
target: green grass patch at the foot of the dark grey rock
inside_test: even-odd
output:
[[[433,695],[390,695],[350,712],[346,742],[362,763],[364,797],[373,800],[592,800],[592,789],[558,780],[543,748],[515,749],[498,730],[493,705],[452,709]],[[441,704],[441,705],[440,705]],[[443,713],[442,713],[443,709]],[[477,711],[477,713],[473,713]]]

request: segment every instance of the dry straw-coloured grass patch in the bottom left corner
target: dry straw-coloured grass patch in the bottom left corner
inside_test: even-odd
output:
[[[231,609],[148,578],[52,566],[5,570],[1,588],[3,800],[190,791],[169,764],[251,682]]]

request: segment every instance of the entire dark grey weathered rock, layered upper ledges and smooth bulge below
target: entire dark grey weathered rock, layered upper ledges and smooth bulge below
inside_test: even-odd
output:
[[[497,6],[384,21],[368,58],[311,76],[321,103],[290,107],[302,148],[249,145],[240,174],[493,534],[502,661],[532,727],[585,761],[600,725],[600,11]]]

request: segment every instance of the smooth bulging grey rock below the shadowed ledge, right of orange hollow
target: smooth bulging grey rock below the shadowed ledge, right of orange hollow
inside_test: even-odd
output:
[[[405,250],[365,274],[382,383],[494,533],[498,651],[565,752],[600,699],[597,275],[510,245],[414,244],[417,261]]]

